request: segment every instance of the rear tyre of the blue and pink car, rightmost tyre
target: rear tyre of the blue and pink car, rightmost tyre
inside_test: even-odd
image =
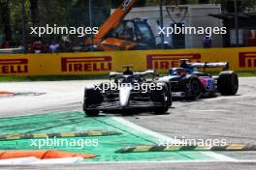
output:
[[[239,76],[235,71],[222,71],[217,79],[218,92],[223,96],[233,96],[239,90]]]

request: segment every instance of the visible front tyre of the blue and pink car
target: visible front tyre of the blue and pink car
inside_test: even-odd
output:
[[[202,95],[202,84],[197,76],[188,77],[186,99],[200,99]]]

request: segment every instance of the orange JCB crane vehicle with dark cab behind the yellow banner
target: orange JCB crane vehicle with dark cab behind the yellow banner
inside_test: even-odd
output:
[[[153,32],[145,20],[140,18],[123,20],[137,1],[123,0],[100,27],[98,34],[94,35],[92,40],[87,38],[85,44],[93,44],[99,50],[144,49],[147,46],[154,46]],[[133,26],[128,26],[129,24]]]

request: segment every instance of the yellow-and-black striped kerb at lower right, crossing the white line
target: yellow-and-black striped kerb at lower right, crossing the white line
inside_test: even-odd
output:
[[[179,152],[179,151],[256,151],[256,145],[244,143],[232,143],[226,146],[184,146],[184,145],[142,145],[135,147],[126,147],[115,153],[144,153],[144,152]]]

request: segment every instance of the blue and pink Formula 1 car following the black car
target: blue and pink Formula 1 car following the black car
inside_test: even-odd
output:
[[[223,68],[218,76],[211,76],[198,69]],[[229,63],[189,63],[182,59],[180,68],[172,68],[168,76],[159,80],[171,82],[173,98],[199,99],[201,97],[236,95],[239,78],[235,71],[228,71]]]

